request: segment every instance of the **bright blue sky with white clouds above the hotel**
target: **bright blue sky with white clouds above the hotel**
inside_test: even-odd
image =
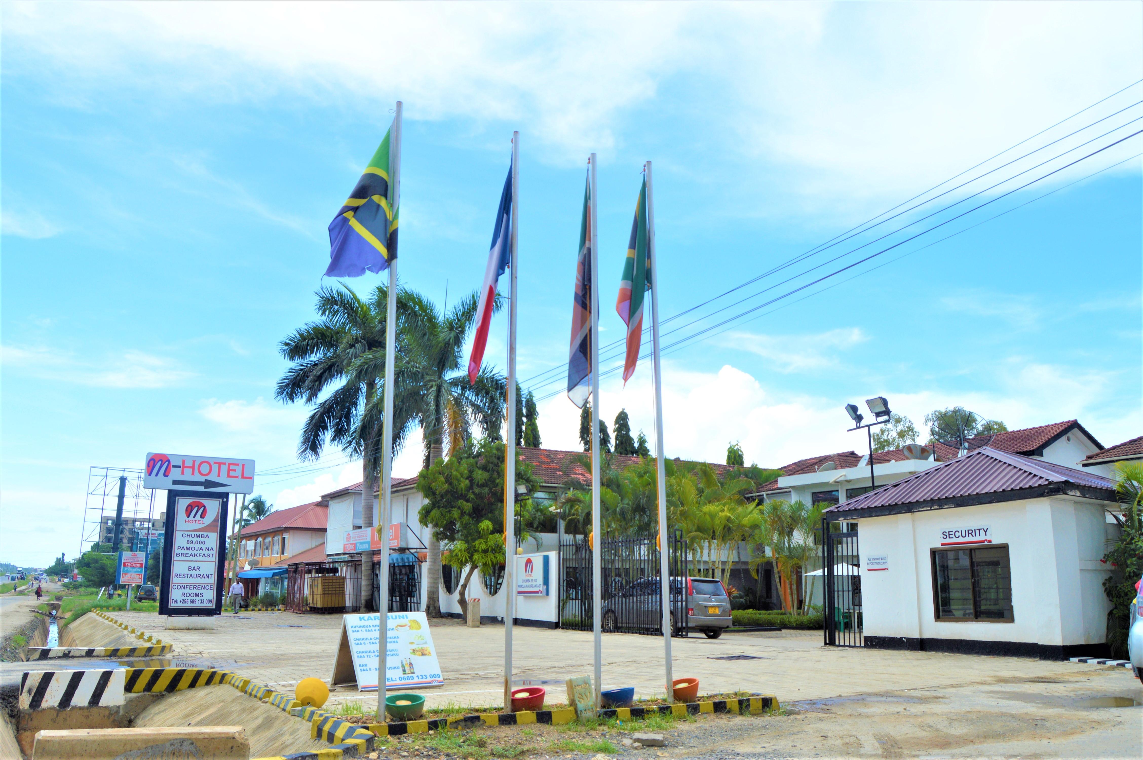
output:
[[[0,560],[77,551],[90,465],[149,450],[296,463],[305,409],[273,400],[277,343],[312,317],[326,226],[395,99],[401,280],[438,302],[480,283],[521,131],[528,381],[566,360],[589,152],[607,343],[642,161],[668,318],[1143,78],[1140,24],[1138,5],[1097,2],[7,3]],[[1136,85],[965,175],[1064,138],[943,201],[1127,125],[929,225],[1135,131],[1138,101]],[[671,353],[669,455],[721,461],[742,441],[777,466],[861,450],[841,406],[876,394],[917,423],[961,403],[1014,427],[1078,417],[1104,445],[1140,434],[1141,151],[1143,135]],[[503,318],[493,330],[486,360],[503,368]],[[574,448],[560,383],[531,385],[554,393],[544,443]],[[650,432],[648,366],[625,389],[604,381],[605,418],[621,407]],[[415,439],[397,474],[417,459]],[[293,506],[354,470],[333,453],[258,488]]]

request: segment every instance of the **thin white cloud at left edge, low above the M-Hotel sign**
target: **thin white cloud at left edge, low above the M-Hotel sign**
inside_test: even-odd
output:
[[[0,357],[6,367],[33,377],[95,387],[169,387],[194,375],[170,359],[137,350],[85,360],[50,346],[6,345]]]

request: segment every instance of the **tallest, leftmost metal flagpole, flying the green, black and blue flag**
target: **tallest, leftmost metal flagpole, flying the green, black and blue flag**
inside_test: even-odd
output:
[[[392,209],[397,214],[401,195],[401,102],[397,102],[393,117],[392,158]],[[385,400],[381,433],[381,523],[377,536],[381,544],[381,562],[377,568],[377,722],[385,722],[385,673],[389,671],[386,645],[389,643],[389,522],[392,514],[393,486],[393,360],[397,357],[397,258],[389,262],[389,293],[385,298]],[[365,569],[365,568],[362,568]],[[369,568],[371,570],[371,568]],[[366,570],[366,571],[369,571]],[[365,606],[365,600],[361,600]]]

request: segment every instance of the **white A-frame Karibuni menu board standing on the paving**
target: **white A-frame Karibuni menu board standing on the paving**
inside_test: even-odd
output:
[[[359,691],[377,689],[378,613],[342,616],[342,634],[330,683],[357,683]],[[385,688],[443,686],[437,647],[424,613],[390,613],[385,650]]]

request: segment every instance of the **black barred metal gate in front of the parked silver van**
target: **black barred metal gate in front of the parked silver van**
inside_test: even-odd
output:
[[[602,619],[608,633],[662,635],[663,597],[660,552],[654,538],[605,538],[602,563]],[[582,536],[565,537],[560,544],[560,627],[592,630],[592,551]],[[688,633],[686,578],[690,575],[687,542],[676,531],[668,546],[671,573],[671,618],[673,634]]]

